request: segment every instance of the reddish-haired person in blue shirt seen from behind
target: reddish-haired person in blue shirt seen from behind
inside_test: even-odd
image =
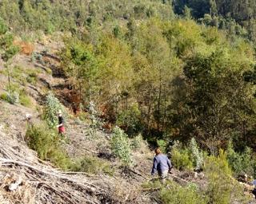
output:
[[[162,182],[165,182],[168,172],[172,168],[170,159],[168,159],[166,155],[162,154],[159,147],[154,152],[155,156],[151,175],[154,175],[158,171],[159,179],[161,179]]]

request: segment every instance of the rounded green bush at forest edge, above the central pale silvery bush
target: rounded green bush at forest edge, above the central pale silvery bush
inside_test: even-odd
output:
[[[126,131],[127,135],[134,135],[140,130],[141,112],[138,104],[132,104],[130,108],[118,113],[116,124]]]

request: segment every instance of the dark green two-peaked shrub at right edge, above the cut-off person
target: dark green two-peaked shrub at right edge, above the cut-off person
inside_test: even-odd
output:
[[[238,153],[234,151],[234,147],[230,142],[226,156],[234,176],[243,174],[254,176],[255,160],[249,147],[246,147],[245,151]]]

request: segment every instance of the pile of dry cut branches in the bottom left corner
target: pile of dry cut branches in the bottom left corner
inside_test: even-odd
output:
[[[29,161],[0,139],[1,203],[101,203],[106,190],[86,175],[62,172],[46,162]]]

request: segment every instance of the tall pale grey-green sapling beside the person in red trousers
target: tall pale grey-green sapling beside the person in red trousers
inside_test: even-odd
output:
[[[64,106],[59,102],[59,100],[54,96],[52,92],[49,92],[46,96],[46,109],[44,119],[50,128],[55,128],[58,125],[58,111],[62,111],[63,117],[67,117],[66,110]]]

